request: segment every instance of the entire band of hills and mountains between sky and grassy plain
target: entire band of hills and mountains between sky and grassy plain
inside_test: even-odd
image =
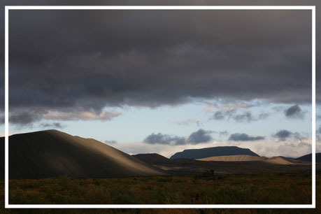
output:
[[[320,162],[321,153],[317,154]],[[199,159],[199,160],[198,160]],[[0,178],[4,178],[4,138],[0,138]],[[311,170],[311,154],[297,159],[259,157],[248,148],[219,146],[184,150],[166,158],[157,153],[128,155],[92,138],[46,130],[9,136],[9,178],[106,178]]]

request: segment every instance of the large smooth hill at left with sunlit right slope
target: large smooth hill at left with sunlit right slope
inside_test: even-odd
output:
[[[0,142],[3,149],[4,138]],[[154,166],[92,138],[71,136],[57,130],[9,137],[10,179],[62,175],[99,178],[162,174]]]

